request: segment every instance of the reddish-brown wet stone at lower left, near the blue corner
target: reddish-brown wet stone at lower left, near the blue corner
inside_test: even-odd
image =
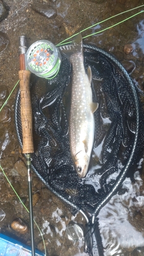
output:
[[[12,221],[11,228],[15,230],[16,232],[19,232],[21,234],[26,234],[29,231],[29,226],[26,224],[23,220],[20,218],[17,218]]]

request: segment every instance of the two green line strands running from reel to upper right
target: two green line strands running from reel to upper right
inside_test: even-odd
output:
[[[78,32],[78,33],[76,33],[76,34],[74,34],[74,35],[68,37],[67,39],[64,39],[63,41],[59,42],[59,44],[57,44],[56,46],[68,44],[69,42],[65,42],[65,41],[67,41],[67,40],[69,40],[70,38],[72,38],[72,37],[78,35],[79,33],[82,33],[82,32],[84,32],[84,31],[86,31],[87,29],[90,29],[90,28],[92,28],[92,27],[94,27],[94,26],[97,26],[97,25],[103,23],[103,22],[106,22],[107,20],[109,20],[109,19],[111,19],[111,18],[114,18],[114,17],[116,17],[116,16],[118,16],[118,15],[124,14],[124,13],[126,13],[126,12],[130,12],[130,11],[132,11],[132,10],[135,10],[135,9],[140,8],[140,7],[143,7],[143,6],[144,6],[144,5],[141,5],[141,6],[138,6],[138,7],[133,8],[133,9],[130,9],[130,10],[127,10],[127,11],[124,11],[124,12],[121,12],[121,13],[118,13],[118,14],[112,16],[112,17],[109,17],[109,18],[107,18],[107,19],[102,20],[102,22],[95,23],[94,25],[92,25],[92,26],[90,26],[90,27],[87,27],[86,29],[83,29],[83,30],[81,30],[80,32]],[[141,13],[141,12],[143,12],[143,11],[140,11],[140,12],[134,14],[133,16],[136,16],[137,14],[139,14],[139,13]],[[133,17],[133,16],[130,16],[129,18],[131,18],[131,17]],[[127,19],[129,19],[129,18],[127,18]],[[120,23],[124,22],[124,21],[127,20],[127,19],[122,20]],[[114,26],[116,26],[116,25],[118,25],[118,24],[119,24],[119,23],[117,23],[117,24],[115,24],[115,25],[113,25],[113,26],[111,26],[111,27],[108,27],[107,29],[112,28],[112,27],[114,27]],[[106,30],[106,29],[105,29],[105,30]],[[102,30],[102,31],[103,31],[103,30]],[[99,31],[99,32],[96,32],[96,33],[101,33],[102,31]],[[96,33],[95,33],[95,34],[96,34]],[[93,34],[90,34],[90,35],[93,35]],[[90,36],[90,35],[87,35],[86,37],[88,37],[88,36]],[[83,37],[83,38],[86,38],[86,37]],[[63,42],[65,42],[65,43],[63,44]],[[70,42],[71,42],[71,41],[70,41]]]

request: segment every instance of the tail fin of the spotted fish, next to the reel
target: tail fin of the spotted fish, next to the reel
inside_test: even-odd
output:
[[[70,45],[60,46],[59,49],[67,59],[69,59],[70,56],[75,53],[81,53],[83,55],[83,42],[81,33],[75,36]]]

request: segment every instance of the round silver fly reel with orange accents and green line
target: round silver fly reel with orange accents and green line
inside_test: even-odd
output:
[[[59,50],[48,40],[34,42],[26,54],[27,68],[39,77],[54,77],[59,71],[60,63]]]

